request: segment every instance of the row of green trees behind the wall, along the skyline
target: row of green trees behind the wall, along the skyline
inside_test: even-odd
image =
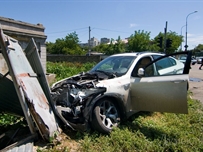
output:
[[[116,43],[114,43],[114,40],[112,39],[110,44],[101,44],[92,48],[91,50],[101,52],[106,55],[142,51],[173,53],[178,51],[182,41],[183,36],[172,31],[167,32],[166,37],[164,33],[160,32],[154,39],[150,40],[150,32],[138,30],[128,38],[128,44],[122,42],[120,36],[118,36]],[[47,52],[51,54],[68,55],[86,54],[88,52],[88,47],[82,49],[78,43],[78,35],[76,32],[73,32],[68,34],[64,39],[57,39],[55,43],[48,42]]]

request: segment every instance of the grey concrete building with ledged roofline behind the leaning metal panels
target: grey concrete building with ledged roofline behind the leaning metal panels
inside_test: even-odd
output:
[[[6,35],[18,40],[24,50],[31,38],[34,38],[38,47],[40,60],[44,71],[46,72],[46,38],[45,28],[42,24],[30,24],[10,18],[0,17],[0,28]]]

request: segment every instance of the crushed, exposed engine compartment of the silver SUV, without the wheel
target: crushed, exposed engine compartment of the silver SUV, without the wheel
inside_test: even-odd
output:
[[[86,130],[91,119],[93,100],[106,92],[105,87],[97,87],[97,74],[81,73],[64,79],[51,87],[51,97],[55,111],[61,120],[74,130]]]

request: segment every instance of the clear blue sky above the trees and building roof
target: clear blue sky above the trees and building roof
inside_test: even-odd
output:
[[[153,39],[167,31],[186,35],[188,49],[203,44],[203,0],[0,0],[0,16],[45,27],[47,41],[72,32],[86,43],[91,37],[125,39],[136,30]],[[182,30],[181,30],[182,29]],[[185,42],[183,43],[183,46]]]

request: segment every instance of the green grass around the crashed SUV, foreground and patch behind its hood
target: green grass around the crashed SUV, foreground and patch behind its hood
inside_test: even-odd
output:
[[[56,73],[59,80],[88,71],[93,66],[91,63],[48,63],[47,70],[49,73]],[[45,149],[38,147],[37,151],[69,152],[74,149],[79,152],[203,152],[203,105],[190,96],[191,93],[188,93],[188,114],[139,112],[114,128],[109,135],[66,129],[63,130],[66,134],[63,140],[49,143],[51,146]],[[6,124],[10,124],[7,120]],[[4,120],[0,122],[4,123]],[[68,144],[64,144],[65,142]],[[77,146],[72,148],[71,145],[75,143]]]

